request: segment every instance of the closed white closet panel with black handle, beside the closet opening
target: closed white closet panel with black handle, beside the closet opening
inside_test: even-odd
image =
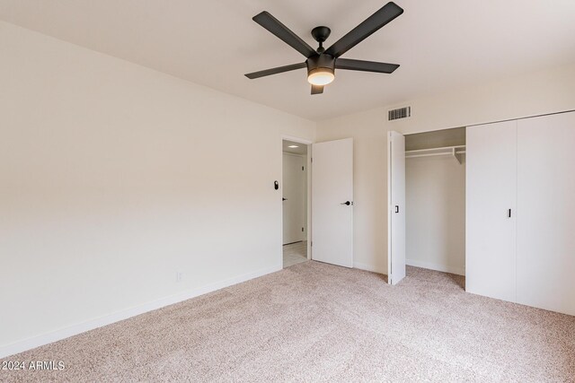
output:
[[[517,121],[467,127],[465,288],[516,299]]]

